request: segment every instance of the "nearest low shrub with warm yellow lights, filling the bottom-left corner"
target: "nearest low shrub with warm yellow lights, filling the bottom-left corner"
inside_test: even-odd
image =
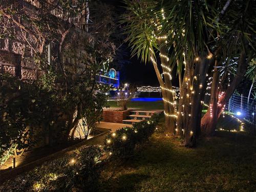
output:
[[[0,191],[95,191],[103,168],[101,156],[99,147],[81,147],[5,182]]]

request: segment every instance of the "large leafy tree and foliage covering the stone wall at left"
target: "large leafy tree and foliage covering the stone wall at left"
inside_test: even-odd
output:
[[[81,119],[92,130],[100,120],[102,108],[107,106],[108,88],[97,84],[96,75],[102,62],[115,52],[110,39],[113,23],[106,19],[110,18],[110,8],[92,3],[91,8],[95,9],[91,20],[95,23],[88,29],[89,34],[78,33],[67,22],[81,12],[88,16],[88,2],[56,1],[62,11],[70,13],[65,17],[67,20],[51,15],[52,6],[38,3],[31,9],[20,1],[1,3],[1,37],[22,42],[31,49],[29,59],[35,68],[41,69],[42,75],[34,82],[1,75],[0,158],[12,143],[18,144],[18,149],[36,143],[35,134],[50,145],[72,139],[71,130],[75,130]],[[46,59],[49,47],[50,62]],[[27,58],[23,55],[23,59]]]

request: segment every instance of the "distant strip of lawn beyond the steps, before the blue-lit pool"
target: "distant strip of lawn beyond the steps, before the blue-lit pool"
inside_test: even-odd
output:
[[[117,108],[116,101],[109,101],[111,108]],[[163,110],[163,101],[130,101],[127,104],[128,109],[137,110]]]

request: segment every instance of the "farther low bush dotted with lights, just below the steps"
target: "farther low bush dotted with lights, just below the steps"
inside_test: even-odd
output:
[[[136,145],[145,143],[154,133],[157,118],[122,127],[110,133],[104,140],[104,150],[110,158],[127,158],[133,155]]]

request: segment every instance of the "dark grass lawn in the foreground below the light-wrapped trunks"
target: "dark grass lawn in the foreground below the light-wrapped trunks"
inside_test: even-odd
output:
[[[239,124],[227,123],[230,129]],[[112,168],[104,171],[100,191],[256,191],[256,138],[223,131],[185,148],[155,133],[107,180]]]

